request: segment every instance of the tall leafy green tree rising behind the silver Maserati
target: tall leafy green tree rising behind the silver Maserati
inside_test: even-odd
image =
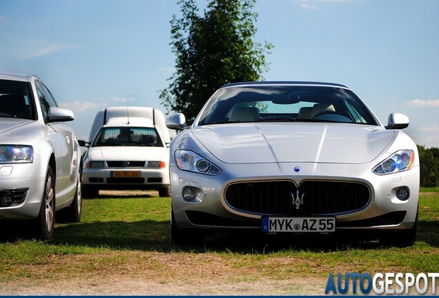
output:
[[[182,16],[173,16],[171,46],[175,73],[160,99],[168,111],[193,121],[204,103],[224,83],[262,80],[265,54],[273,47],[255,43],[256,0],[211,0],[204,15],[195,0],[180,0]]]

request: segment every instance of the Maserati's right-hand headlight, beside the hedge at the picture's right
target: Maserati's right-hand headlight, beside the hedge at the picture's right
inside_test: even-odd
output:
[[[414,161],[415,152],[413,150],[400,150],[393,153],[391,157],[382,161],[378,166],[375,166],[373,172],[378,175],[387,175],[410,170]]]

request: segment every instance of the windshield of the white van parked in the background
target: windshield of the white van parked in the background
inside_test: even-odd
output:
[[[91,146],[163,147],[163,144],[155,128],[104,127],[99,130]]]

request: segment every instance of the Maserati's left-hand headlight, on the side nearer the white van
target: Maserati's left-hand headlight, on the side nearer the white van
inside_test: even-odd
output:
[[[207,175],[218,175],[222,172],[220,168],[193,151],[176,150],[175,160],[180,170],[199,172]]]

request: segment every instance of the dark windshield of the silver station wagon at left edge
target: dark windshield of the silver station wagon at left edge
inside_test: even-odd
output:
[[[27,82],[0,80],[0,117],[35,119]]]

